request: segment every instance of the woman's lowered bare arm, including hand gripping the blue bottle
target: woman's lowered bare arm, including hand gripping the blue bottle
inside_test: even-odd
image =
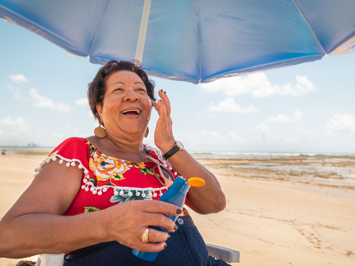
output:
[[[105,210],[61,216],[81,185],[83,170],[58,161],[45,164],[0,221],[0,257],[21,258],[42,253],[63,253],[100,242],[116,240],[142,251],[160,251],[168,234],[148,225],[174,232],[174,222],[160,214],[176,215],[177,206],[160,201],[122,203]]]

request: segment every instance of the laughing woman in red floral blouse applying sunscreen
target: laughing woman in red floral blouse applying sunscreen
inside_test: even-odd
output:
[[[100,126],[91,137],[65,140],[35,169],[32,184],[0,221],[0,256],[70,253],[65,265],[218,262],[208,257],[187,211],[157,201],[171,183],[169,176],[197,176],[206,185],[191,187],[185,204],[200,214],[225,207],[214,175],[175,142],[166,92],[160,90],[161,100],[155,102],[153,89],[147,74],[131,62],[113,60],[100,68],[88,89]],[[159,114],[154,142],[161,152],[142,144],[153,107]],[[154,159],[171,172],[167,178],[159,176]],[[163,214],[183,215],[182,222]],[[145,264],[131,249],[165,250]]]

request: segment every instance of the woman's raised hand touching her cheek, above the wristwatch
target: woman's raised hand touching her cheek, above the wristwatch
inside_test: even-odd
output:
[[[155,127],[154,143],[160,150],[170,150],[175,145],[175,138],[173,136],[173,121],[167,114],[171,113],[170,101],[166,92],[158,91],[161,100],[157,102],[152,100],[152,105],[157,110],[159,119]]]

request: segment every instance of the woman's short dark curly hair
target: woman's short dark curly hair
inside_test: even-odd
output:
[[[88,84],[88,101],[90,109],[98,120],[100,119],[99,113],[96,110],[96,105],[102,105],[104,95],[106,92],[107,77],[116,71],[132,71],[136,73],[146,86],[148,96],[155,101],[154,98],[154,81],[148,78],[148,75],[141,67],[141,63],[134,61],[108,61],[103,67],[99,69],[93,81]]]

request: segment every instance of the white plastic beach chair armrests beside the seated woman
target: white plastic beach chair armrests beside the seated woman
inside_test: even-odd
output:
[[[208,255],[216,259],[222,259],[228,264],[231,262],[239,262],[239,251],[224,248],[223,246],[216,246],[206,244]],[[63,266],[64,253],[62,254],[39,254],[35,266]]]

